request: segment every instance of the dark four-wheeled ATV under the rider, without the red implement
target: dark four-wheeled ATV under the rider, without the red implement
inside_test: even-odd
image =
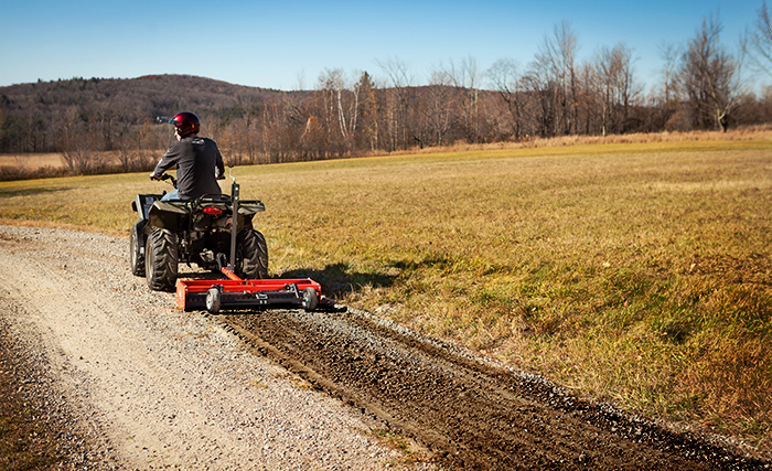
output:
[[[176,188],[174,176],[164,173],[161,180]],[[253,217],[266,207],[257,200],[239,201],[239,186],[232,180],[230,195],[162,201],[165,191],[138,194],[131,203],[139,215],[129,243],[131,272],[144,276],[156,291],[174,290],[180,263],[217,271],[233,260],[238,277],[268,278],[266,238],[253,227]],[[232,234],[234,202],[237,234]]]

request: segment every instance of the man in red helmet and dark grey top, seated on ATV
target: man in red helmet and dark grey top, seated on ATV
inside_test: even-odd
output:
[[[174,125],[176,141],[169,146],[150,174],[151,180],[161,180],[164,171],[178,167],[176,190],[167,193],[163,201],[192,201],[205,194],[221,194],[217,180],[225,179],[223,156],[215,141],[199,137],[199,117],[190,111],[178,113],[169,124]]]

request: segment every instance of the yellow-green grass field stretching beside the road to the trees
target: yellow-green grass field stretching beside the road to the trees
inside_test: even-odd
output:
[[[255,223],[271,275],[310,275],[350,306],[588,396],[772,448],[771,140],[235,173],[266,203]],[[133,196],[162,189],[146,174],[4,182],[0,222],[128,238]]]

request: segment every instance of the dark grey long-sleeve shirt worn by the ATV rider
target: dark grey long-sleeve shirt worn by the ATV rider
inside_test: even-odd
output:
[[[221,194],[217,178],[225,174],[223,156],[215,141],[191,136],[172,142],[153,174],[160,175],[176,165],[176,188],[181,200],[204,194]]]

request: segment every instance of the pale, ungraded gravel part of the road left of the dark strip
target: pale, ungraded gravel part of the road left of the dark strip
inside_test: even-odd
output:
[[[217,319],[148,290],[130,274],[127,246],[0,226],[3,336],[35,363],[25,387],[47,414],[68,417],[77,469],[379,470],[411,461],[378,439],[367,416],[254,354]]]

